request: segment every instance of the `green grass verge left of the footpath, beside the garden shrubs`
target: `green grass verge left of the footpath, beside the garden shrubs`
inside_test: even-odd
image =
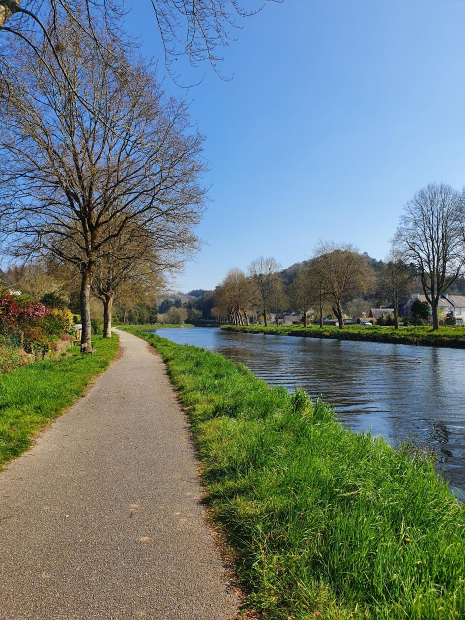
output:
[[[32,436],[76,401],[118,351],[118,338],[92,337],[95,356],[72,347],[59,361],[38,361],[0,375],[0,468],[33,442]]]

